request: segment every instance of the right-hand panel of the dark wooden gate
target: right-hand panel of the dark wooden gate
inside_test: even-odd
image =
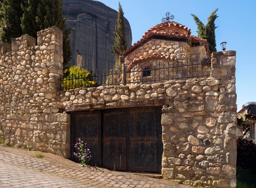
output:
[[[127,170],[159,172],[160,109],[140,107],[128,109]]]

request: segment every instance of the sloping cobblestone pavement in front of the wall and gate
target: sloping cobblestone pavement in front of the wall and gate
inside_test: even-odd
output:
[[[113,172],[78,163],[53,154],[38,159],[34,151],[0,145],[0,187],[11,188],[184,188],[163,179]]]

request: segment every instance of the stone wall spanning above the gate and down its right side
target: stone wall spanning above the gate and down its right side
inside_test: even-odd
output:
[[[66,111],[164,105],[163,177],[236,187],[235,63],[235,51],[216,52],[210,78],[77,88],[59,96]]]

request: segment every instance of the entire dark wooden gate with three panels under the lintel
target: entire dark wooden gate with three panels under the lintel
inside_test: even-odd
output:
[[[71,159],[81,138],[92,151],[92,166],[161,172],[160,107],[72,112],[71,122]]]

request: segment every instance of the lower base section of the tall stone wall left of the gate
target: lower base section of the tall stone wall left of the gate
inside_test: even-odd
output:
[[[0,114],[0,138],[7,145],[70,156],[70,115]]]

